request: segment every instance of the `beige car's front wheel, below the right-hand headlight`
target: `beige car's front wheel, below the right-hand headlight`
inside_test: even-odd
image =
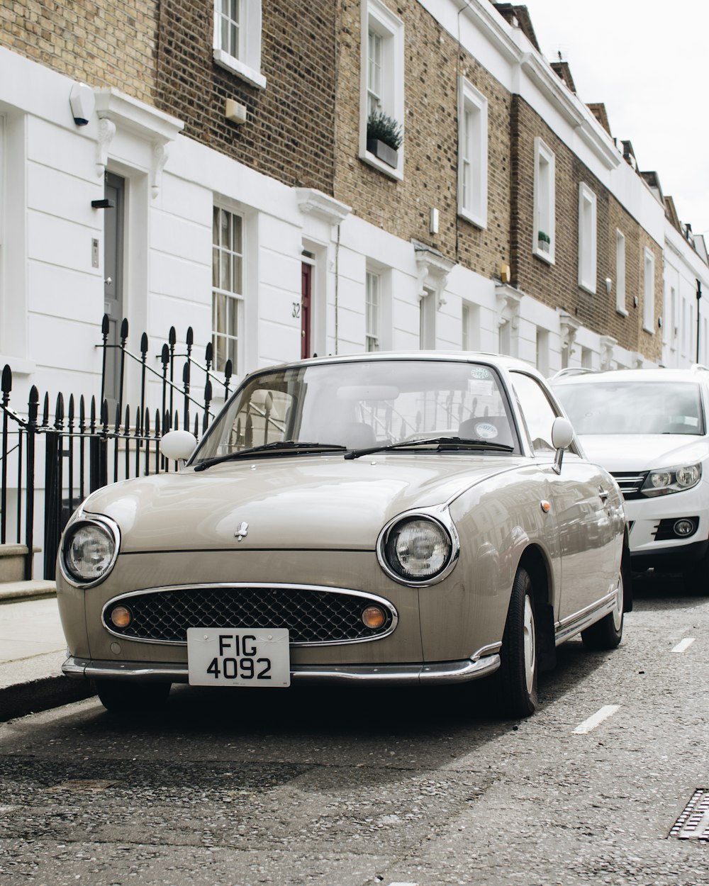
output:
[[[494,677],[497,710],[510,719],[529,717],[539,703],[537,629],[532,579],[521,566],[512,584],[500,657]]]

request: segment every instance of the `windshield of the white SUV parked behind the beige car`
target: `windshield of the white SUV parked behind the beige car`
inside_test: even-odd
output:
[[[555,385],[578,434],[703,434],[699,385],[617,381]]]

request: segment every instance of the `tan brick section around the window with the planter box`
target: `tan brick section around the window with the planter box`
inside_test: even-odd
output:
[[[403,181],[359,159],[361,5],[339,4],[339,66],[334,196],[354,213],[440,250],[483,276],[510,260],[510,94],[416,2],[389,9],[404,23],[405,139]],[[488,100],[487,228],[457,215],[458,74]],[[440,213],[429,233],[430,209]]]

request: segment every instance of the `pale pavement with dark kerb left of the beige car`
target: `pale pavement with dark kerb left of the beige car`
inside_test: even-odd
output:
[[[0,722],[93,695],[62,674],[65,659],[54,582],[0,584]]]

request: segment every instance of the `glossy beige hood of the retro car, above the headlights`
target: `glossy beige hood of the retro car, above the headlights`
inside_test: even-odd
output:
[[[254,459],[125,480],[97,490],[83,509],[116,521],[122,553],[372,549],[401,511],[451,501],[524,461],[433,453]],[[248,531],[238,541],[243,523]]]

